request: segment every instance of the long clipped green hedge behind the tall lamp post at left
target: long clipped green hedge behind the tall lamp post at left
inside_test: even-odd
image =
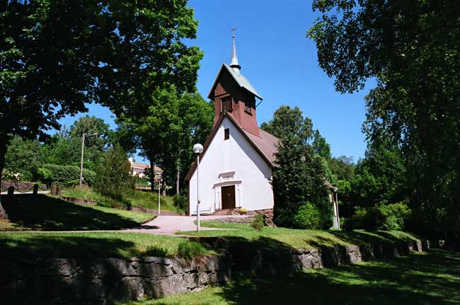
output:
[[[38,168],[38,176],[44,183],[57,183],[66,186],[80,183],[80,168],[78,166],[64,166],[56,164],[44,164]],[[87,185],[92,185],[96,180],[96,173],[83,169],[83,180]]]

